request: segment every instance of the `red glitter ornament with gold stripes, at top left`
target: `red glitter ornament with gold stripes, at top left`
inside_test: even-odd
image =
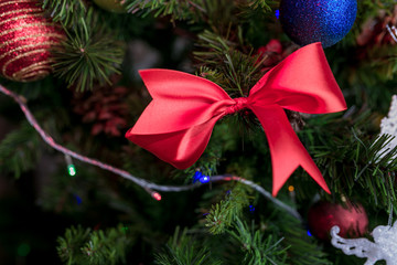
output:
[[[20,82],[43,78],[52,71],[51,50],[64,39],[36,0],[0,0],[0,73]]]

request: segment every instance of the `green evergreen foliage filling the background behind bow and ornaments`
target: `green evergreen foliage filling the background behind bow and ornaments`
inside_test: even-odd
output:
[[[275,15],[278,3],[270,0],[126,0],[128,12],[116,14],[100,10],[93,1],[43,0],[41,6],[46,14],[61,23],[67,35],[63,50],[54,51],[55,75],[29,84],[2,78],[0,83],[28,98],[37,120],[56,141],[137,177],[179,186],[191,183],[200,170],[206,176],[239,176],[268,190],[272,181],[269,147],[250,112],[219,120],[201,159],[186,170],[175,170],[121,137],[89,135],[89,128],[74,112],[85,102],[76,100],[74,93],[95,95],[94,87],[110,84],[111,75],[122,74],[117,85],[128,91],[127,127],[135,124],[151,100],[140,80],[127,74],[130,70],[126,67],[130,65],[196,73],[218,84],[232,98],[245,97],[269,65],[298,49],[282,33]],[[189,192],[164,192],[158,202],[135,183],[81,162],[76,165],[77,176],[65,178],[63,155],[43,148],[43,141],[24,121],[23,114],[9,108],[9,98],[0,95],[1,117],[18,127],[0,139],[0,173],[13,173],[14,179],[7,178],[14,181],[17,188],[12,189],[21,189],[19,195],[29,195],[37,209],[64,220],[64,223],[54,223],[58,230],[66,230],[63,236],[58,236],[58,231],[53,232],[57,246],[50,243],[47,248],[40,235],[28,240],[21,235],[25,241],[37,242],[32,244],[32,253],[40,253],[34,262],[45,263],[47,253],[56,256],[57,251],[61,261],[68,265],[362,264],[362,259],[345,256],[309,236],[304,220],[318,199],[362,203],[368,212],[369,231],[386,224],[388,216],[395,216],[397,148],[382,152],[394,136],[378,135],[379,120],[387,113],[390,96],[397,94],[397,45],[382,28],[382,23],[393,25],[396,20],[395,4],[395,0],[358,1],[352,31],[342,42],[325,50],[346,98],[347,112],[330,115],[286,112],[332,191],[331,195],[325,194],[303,170],[291,176],[286,187],[291,186],[294,191],[283,188],[277,199],[296,209],[303,221],[233,181],[196,184],[200,188]],[[356,40],[367,26],[366,21],[382,22],[377,24],[380,33],[372,28],[374,40],[358,45]],[[390,40],[379,41],[385,36]],[[142,49],[132,60],[125,56],[126,47],[132,46],[131,40],[143,43],[151,52]],[[270,40],[278,40],[282,51],[269,50]],[[266,52],[260,54],[258,47]],[[277,60],[272,61],[273,56]],[[66,88],[73,88],[73,93]],[[104,106],[93,104],[93,108],[101,113]],[[37,177],[36,172],[42,172],[36,169],[37,161],[43,152],[51,153],[51,166],[56,170]],[[50,180],[43,181],[46,177]],[[7,189],[1,188],[0,212],[3,212],[1,192]],[[28,189],[32,189],[28,192],[32,194],[25,194]],[[256,210],[249,211],[249,205]],[[17,220],[12,212],[2,216],[0,225]],[[94,227],[98,223],[103,230],[82,226]],[[129,225],[112,227],[117,223]],[[18,245],[19,237],[13,234],[7,237],[7,227],[1,231],[0,254],[3,248],[18,253],[6,248],[3,242],[12,237],[13,245]],[[12,263],[15,254],[10,255]],[[4,259],[4,264],[7,262]]]

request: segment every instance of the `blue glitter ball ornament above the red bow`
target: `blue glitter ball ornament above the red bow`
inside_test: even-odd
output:
[[[281,0],[280,21],[299,45],[321,42],[323,47],[341,41],[352,29],[357,0]]]

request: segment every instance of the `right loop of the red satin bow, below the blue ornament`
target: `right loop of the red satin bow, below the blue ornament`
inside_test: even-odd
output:
[[[277,104],[300,113],[346,109],[321,43],[301,47],[271,68],[250,89],[249,97],[254,105]]]

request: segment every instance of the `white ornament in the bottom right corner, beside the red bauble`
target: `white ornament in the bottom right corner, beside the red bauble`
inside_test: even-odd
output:
[[[337,225],[331,229],[331,243],[344,254],[366,257],[364,265],[373,265],[380,259],[385,259],[387,265],[397,265],[397,221],[393,226],[376,226],[372,232],[375,243],[367,239],[346,240],[339,236],[339,232]]]

